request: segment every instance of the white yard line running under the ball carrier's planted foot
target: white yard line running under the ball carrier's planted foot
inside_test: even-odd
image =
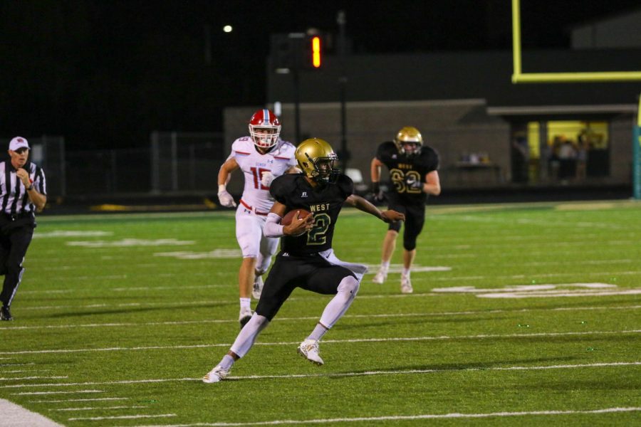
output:
[[[563,364],[534,367],[474,367],[474,368],[450,368],[450,369],[407,369],[404,371],[359,371],[359,372],[338,372],[332,374],[288,374],[288,375],[247,375],[228,376],[229,380],[247,379],[298,379],[298,378],[343,378],[350,376],[380,376],[380,375],[412,375],[412,374],[439,374],[448,372],[479,372],[479,371],[542,371],[548,369],[584,369],[584,368],[605,368],[605,367],[639,367],[641,362],[603,362],[591,364]],[[25,387],[75,387],[75,386],[110,386],[117,384],[155,384],[164,382],[202,381],[198,378],[168,378],[168,379],[127,379],[122,381],[83,382],[83,383],[62,383],[62,384],[29,384]],[[48,393],[48,392],[47,392]],[[78,393],[78,391],[58,391],[51,393]],[[30,394],[30,393],[22,393]],[[31,393],[46,394],[46,393]]]

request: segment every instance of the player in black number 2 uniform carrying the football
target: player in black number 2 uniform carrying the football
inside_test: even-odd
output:
[[[370,202],[352,194],[352,180],[334,169],[338,157],[323,139],[301,142],[295,156],[303,173],[278,176],[272,181],[269,191],[276,203],[263,229],[265,236],[282,237],[281,251],[265,281],[254,315],[229,352],[203,377],[202,381],[206,383],[218,382],[229,375],[234,362],[249,352],[256,337],[269,325],[295,288],[334,295],[325,306],[318,325],[298,346],[301,356],[322,365],[318,342],[348,310],[367,271],[365,265],[344,263],[333,253],[332,238],[340,209],[348,204],[387,223],[405,218],[396,211],[379,211]],[[296,209],[306,209],[312,214],[306,218],[298,218],[297,214],[290,224],[282,226],[281,218]]]

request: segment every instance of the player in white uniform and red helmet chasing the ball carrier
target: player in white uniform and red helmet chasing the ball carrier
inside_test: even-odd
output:
[[[235,207],[226,190],[231,173],[241,169],[245,176],[243,195],[236,209],[236,240],[243,253],[238,274],[240,292],[239,322],[242,327],[251,318],[251,296],[259,299],[263,288],[261,275],[278,249],[278,238],[263,235],[263,227],[273,205],[269,186],[276,176],[297,172],[296,147],[279,138],[281,123],[270,110],[258,110],[249,120],[249,137],[231,144],[231,154],[218,173],[218,199],[222,206]]]

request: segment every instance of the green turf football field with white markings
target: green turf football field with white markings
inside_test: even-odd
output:
[[[296,347],[328,297],[297,290],[203,384],[238,332],[234,216],[42,215],[0,399],[65,426],[641,425],[641,204],[428,209],[412,295],[371,283],[385,230],[340,216],[338,257],[374,267],[323,367]]]

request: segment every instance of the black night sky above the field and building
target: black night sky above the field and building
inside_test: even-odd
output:
[[[568,48],[571,26],[638,5],[521,3],[524,48]],[[509,0],[3,0],[0,136],[63,135],[78,150],[220,131],[224,107],[264,105],[270,34],[338,33],[340,9],[353,54],[511,48]]]

